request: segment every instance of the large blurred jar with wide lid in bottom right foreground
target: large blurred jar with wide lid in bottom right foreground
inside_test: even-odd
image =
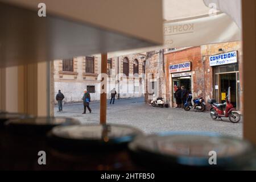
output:
[[[256,154],[245,140],[210,133],[138,137],[129,148],[133,160],[146,169],[253,170]]]

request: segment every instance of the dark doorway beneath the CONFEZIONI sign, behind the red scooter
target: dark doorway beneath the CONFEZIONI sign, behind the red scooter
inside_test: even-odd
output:
[[[237,107],[237,77],[236,73],[227,73],[220,75],[220,102],[225,102],[225,97],[230,94],[230,101],[234,107]]]

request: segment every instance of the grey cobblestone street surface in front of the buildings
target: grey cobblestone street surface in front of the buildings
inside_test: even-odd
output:
[[[82,123],[98,123],[100,121],[100,102],[90,104],[92,114],[82,114],[82,104],[64,105],[61,113],[56,117],[73,117]],[[170,109],[151,107],[144,104],[144,98],[115,100],[115,105],[109,105],[107,122],[131,125],[145,133],[158,133],[162,131],[210,131],[234,137],[242,137],[242,123],[231,123],[228,118],[224,121],[210,118],[210,113],[184,111],[183,109]]]

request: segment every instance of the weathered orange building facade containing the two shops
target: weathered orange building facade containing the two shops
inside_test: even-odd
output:
[[[221,56],[230,55],[230,52],[236,55],[236,63],[210,65],[211,57],[221,59]],[[243,110],[241,42],[164,49],[164,57],[160,55],[156,53],[148,56],[146,70],[149,74],[158,75],[154,80],[158,81],[159,85],[156,94],[163,97],[171,107],[176,107],[174,97],[176,86],[185,86],[191,90],[193,98],[203,97],[205,101],[216,98],[218,102],[223,102],[224,96],[230,92],[233,104],[237,109]],[[160,67],[152,66],[154,64],[160,64]],[[181,71],[175,69],[180,65],[185,65]],[[151,95],[152,93],[146,93],[146,102],[150,102],[148,96]]]

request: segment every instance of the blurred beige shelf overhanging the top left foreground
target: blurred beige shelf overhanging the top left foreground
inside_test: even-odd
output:
[[[0,67],[163,43],[159,0],[1,0],[0,17]]]

